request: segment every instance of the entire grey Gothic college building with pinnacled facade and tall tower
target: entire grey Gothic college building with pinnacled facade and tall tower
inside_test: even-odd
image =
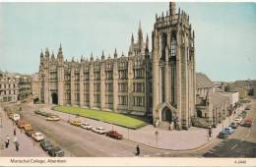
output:
[[[169,3],[166,14],[156,16],[149,37],[141,26],[131,37],[128,55],[80,62],[64,60],[62,47],[56,57],[40,53],[39,100],[151,117],[173,129],[188,129],[195,115],[195,34],[189,16]]]

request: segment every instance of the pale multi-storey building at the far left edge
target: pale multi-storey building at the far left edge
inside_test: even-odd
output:
[[[0,101],[15,102],[32,94],[31,76],[16,73],[0,73]]]

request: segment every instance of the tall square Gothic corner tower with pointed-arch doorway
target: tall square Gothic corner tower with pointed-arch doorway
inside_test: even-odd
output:
[[[165,16],[156,16],[152,41],[154,121],[187,129],[195,110],[194,32],[175,3]]]

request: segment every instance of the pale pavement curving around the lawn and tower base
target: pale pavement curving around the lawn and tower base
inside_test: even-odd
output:
[[[43,111],[59,115],[64,121],[76,118],[74,115],[53,111],[50,108],[51,106],[40,107],[40,109]],[[241,110],[241,108],[236,109],[235,116],[238,115]],[[153,125],[148,125],[139,130],[130,130],[108,123],[102,123],[89,118],[79,117],[79,119],[82,122],[87,122],[94,127],[103,127],[106,131],[115,130],[122,134],[125,139],[133,140],[152,147],[168,150],[188,150],[198,148],[208,143],[209,141],[216,139],[219,133],[225,127],[229,126],[229,123],[233,121],[235,116],[231,115],[230,117],[226,117],[222,124],[219,124],[217,128],[213,129],[213,135],[211,139],[208,138],[208,129],[197,127],[191,127],[188,131],[168,131],[156,129]],[[156,131],[159,132],[158,136],[156,136]]]

